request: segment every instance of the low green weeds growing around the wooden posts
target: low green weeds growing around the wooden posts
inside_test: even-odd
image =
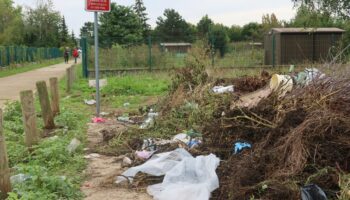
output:
[[[60,82],[61,96],[65,82]],[[37,99],[37,98],[36,98]],[[36,100],[36,111],[40,109]],[[40,116],[40,115],[38,115]],[[38,118],[41,130],[42,119]],[[57,138],[43,138],[29,153],[24,143],[21,107],[18,102],[7,105],[4,112],[4,130],[10,167],[13,175],[24,174],[28,179],[14,183],[9,200],[56,200],[82,199],[80,184],[86,161],[83,148],[86,143],[86,123],[90,120],[90,111],[74,98],[61,99],[61,113],[56,117]],[[82,142],[78,149],[69,154],[67,145],[73,138]]]

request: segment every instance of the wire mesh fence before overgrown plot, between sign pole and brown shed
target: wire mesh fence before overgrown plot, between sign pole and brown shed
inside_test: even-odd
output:
[[[142,42],[124,45],[102,42],[99,48],[100,68],[101,70],[128,70],[184,67],[186,56],[191,49],[203,48],[200,44],[203,44],[203,40],[196,40],[193,43],[163,42],[158,37],[149,37]],[[264,62],[261,43],[237,42],[228,43],[225,47],[214,47],[208,43],[205,48],[207,48],[209,63],[214,67],[251,67],[262,65]],[[224,48],[223,55],[220,53],[222,48]],[[93,70],[94,48],[88,46],[87,49],[88,68]]]

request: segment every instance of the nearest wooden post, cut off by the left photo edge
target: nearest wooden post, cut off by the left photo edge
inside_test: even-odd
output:
[[[10,168],[3,131],[2,110],[0,109],[0,199],[6,199],[9,192],[11,192]]]

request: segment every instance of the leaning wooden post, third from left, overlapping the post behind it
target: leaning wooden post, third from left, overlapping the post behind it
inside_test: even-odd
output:
[[[55,123],[53,120],[53,114],[52,114],[50,100],[49,100],[49,93],[47,92],[46,82],[45,81],[37,82],[36,88],[38,90],[41,113],[43,116],[45,128],[54,129]]]

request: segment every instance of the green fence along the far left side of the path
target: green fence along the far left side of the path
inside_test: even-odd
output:
[[[61,56],[62,51],[59,48],[0,46],[0,67],[25,62],[37,62]]]

